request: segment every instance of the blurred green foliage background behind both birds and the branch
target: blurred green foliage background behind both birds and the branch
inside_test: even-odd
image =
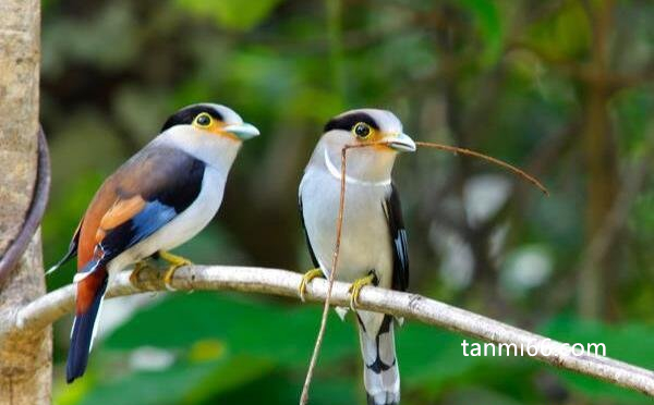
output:
[[[65,251],[102,179],[172,111],[214,101],[263,136],[239,156],[211,226],[179,251],[304,271],[296,187],[322,125],[388,108],[414,138],[509,160],[552,192],[458,157],[401,157],[411,291],[654,368],[654,179],[641,164],[654,161],[653,19],[654,3],[638,0],[44,1],[45,260]],[[603,231],[634,179],[623,219]],[[609,248],[589,258],[597,234]],[[56,326],[55,402],[294,403],[318,318],[315,306],[227,293],[114,299],[73,385],[70,320]],[[462,339],[399,329],[403,404],[647,401],[528,358],[465,357]],[[331,316],[312,404],[363,395],[354,328]]]

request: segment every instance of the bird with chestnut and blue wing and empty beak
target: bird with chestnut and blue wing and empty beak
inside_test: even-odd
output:
[[[132,263],[136,272],[155,255],[170,263],[165,275],[169,286],[174,271],[190,261],[167,250],[209,223],[243,140],[258,134],[225,106],[189,106],[171,115],[155,139],[102,183],[68,254],[49,270],[77,256],[69,383],[86,369],[96,318],[111,278]]]

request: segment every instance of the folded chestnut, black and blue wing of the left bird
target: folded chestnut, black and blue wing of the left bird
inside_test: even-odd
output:
[[[201,160],[164,147],[129,160],[102,185],[84,219],[87,261],[108,262],[184,211],[199,195],[204,169]],[[80,267],[75,279],[97,267]]]

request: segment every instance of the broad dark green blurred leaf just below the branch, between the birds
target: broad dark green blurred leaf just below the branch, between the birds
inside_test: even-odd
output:
[[[231,354],[247,354],[280,365],[304,367],[313,348],[320,310],[316,306],[286,308],[230,294],[172,295],[137,312],[106,341],[113,349],[143,345],[184,348],[194,342],[225,343]],[[173,328],[174,333],[171,333]],[[358,351],[352,326],[331,315],[322,361]]]

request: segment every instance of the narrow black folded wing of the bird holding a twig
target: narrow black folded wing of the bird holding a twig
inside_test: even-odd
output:
[[[409,286],[409,248],[407,245],[407,230],[402,220],[402,207],[395,184],[390,194],[384,200],[384,211],[388,220],[392,247],[392,290],[407,291]]]

